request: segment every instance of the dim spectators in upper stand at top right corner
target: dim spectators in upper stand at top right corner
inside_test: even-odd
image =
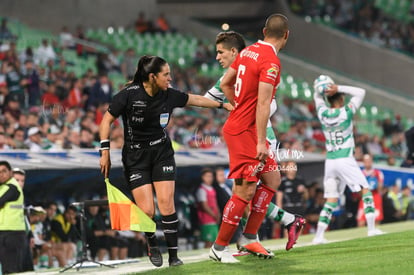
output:
[[[395,18],[377,7],[375,2],[372,0],[290,0],[289,4],[292,12],[298,15],[321,18],[377,46],[413,55],[414,23]],[[400,12],[401,9],[402,7]],[[411,4],[409,15],[412,16],[413,11]],[[407,17],[409,15],[407,14]]]

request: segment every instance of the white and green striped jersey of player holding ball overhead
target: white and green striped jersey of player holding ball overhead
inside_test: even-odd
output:
[[[329,108],[319,93],[314,93],[315,107],[326,139],[327,159],[353,156],[352,118],[365,96],[364,89],[351,86],[338,85],[338,92],[352,96],[350,102],[341,108]]]

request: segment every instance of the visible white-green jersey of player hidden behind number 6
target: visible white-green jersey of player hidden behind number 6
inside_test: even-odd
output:
[[[204,97],[207,97],[211,100],[218,101],[218,102],[228,102],[226,97],[224,96],[223,90],[221,90],[220,88],[222,79],[223,79],[223,76],[220,77],[220,79],[217,80],[216,84],[205,93]],[[273,150],[276,150],[277,139],[275,136],[275,132],[273,131],[273,128],[272,128],[270,117],[276,112],[276,110],[277,110],[277,105],[276,105],[276,95],[275,95],[270,105],[270,116],[269,116],[269,121],[267,122],[267,129],[266,129],[266,138],[269,141],[270,147]]]

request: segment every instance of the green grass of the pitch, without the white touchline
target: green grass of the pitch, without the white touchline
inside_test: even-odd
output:
[[[271,260],[248,255],[238,257],[238,264],[202,261],[145,274],[414,274],[414,228],[274,252]]]

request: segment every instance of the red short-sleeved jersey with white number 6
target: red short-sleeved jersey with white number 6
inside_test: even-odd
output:
[[[237,71],[234,85],[235,108],[230,113],[223,130],[237,135],[250,129],[256,132],[256,104],[259,82],[273,85],[272,98],[280,81],[280,60],[276,49],[259,40],[245,48],[231,65]],[[271,101],[269,101],[270,105]]]

